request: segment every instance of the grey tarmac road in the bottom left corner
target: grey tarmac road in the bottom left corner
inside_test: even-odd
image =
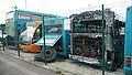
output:
[[[0,53],[0,75],[57,75],[56,73]]]

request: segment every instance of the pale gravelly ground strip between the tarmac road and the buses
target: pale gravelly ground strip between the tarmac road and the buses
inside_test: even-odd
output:
[[[51,69],[59,75],[102,75],[102,71],[100,68],[89,66],[88,64],[77,63],[69,58],[57,57],[55,62],[47,63],[47,65],[45,65],[44,62],[34,62],[34,55],[37,53],[25,53],[21,51],[21,56],[18,56],[18,51],[9,49],[6,49],[6,51],[1,50],[0,53],[11,55],[43,68]],[[34,67],[34,69],[36,67]],[[106,75],[124,74],[121,68],[118,68],[114,72],[106,71]]]

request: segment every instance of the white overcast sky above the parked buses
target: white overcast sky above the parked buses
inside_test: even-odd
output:
[[[74,12],[76,9],[80,11],[80,8],[84,10],[85,8],[88,9],[90,7],[89,4],[97,6],[110,3],[109,6],[112,7],[113,4],[114,8],[114,3],[117,4],[121,1],[128,1],[127,6],[132,6],[132,0],[26,0],[26,10],[52,14],[63,14],[69,13],[69,10],[73,10],[70,12]],[[25,0],[0,0],[0,23],[6,22],[6,13],[12,10],[12,6],[18,6],[19,9],[25,10]]]

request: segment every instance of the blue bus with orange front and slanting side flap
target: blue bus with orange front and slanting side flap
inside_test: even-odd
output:
[[[34,60],[44,60],[43,50],[46,49],[46,62],[55,61],[56,55],[68,57],[69,54],[69,31],[66,30],[68,18],[56,18],[44,21],[26,22],[26,30],[20,34],[20,49],[28,52],[41,52]],[[69,25],[69,24],[68,24]],[[44,36],[45,32],[45,46]]]

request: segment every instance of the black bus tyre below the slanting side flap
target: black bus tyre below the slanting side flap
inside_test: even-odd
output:
[[[52,47],[46,47],[46,62],[53,62],[56,58],[56,50]],[[44,61],[44,47],[41,50],[41,56],[42,60]]]

